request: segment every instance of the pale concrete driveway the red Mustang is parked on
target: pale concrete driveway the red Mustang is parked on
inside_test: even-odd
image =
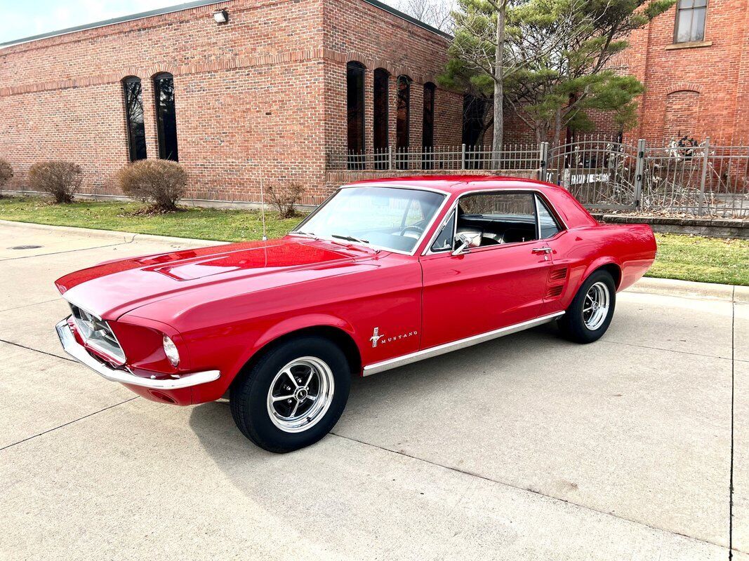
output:
[[[227,402],[148,402],[59,349],[55,278],[186,242],[0,240],[0,559],[749,560],[749,304],[625,292],[592,345],[544,326],[357,379],[276,456]]]

